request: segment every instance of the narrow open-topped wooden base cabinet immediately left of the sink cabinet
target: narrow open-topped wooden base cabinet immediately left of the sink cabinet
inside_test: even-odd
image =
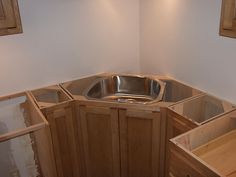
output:
[[[59,86],[33,90],[31,94],[49,122],[58,177],[79,177],[73,101]]]

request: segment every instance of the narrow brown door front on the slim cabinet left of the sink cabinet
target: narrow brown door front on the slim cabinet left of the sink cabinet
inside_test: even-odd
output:
[[[45,112],[50,124],[58,177],[78,177],[79,162],[73,105]]]

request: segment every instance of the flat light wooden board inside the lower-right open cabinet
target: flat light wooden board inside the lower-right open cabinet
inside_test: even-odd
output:
[[[192,152],[222,175],[236,177],[236,130],[202,145]]]

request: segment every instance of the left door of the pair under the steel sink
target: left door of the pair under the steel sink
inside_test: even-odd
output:
[[[118,110],[80,106],[79,121],[87,177],[119,177]]]

